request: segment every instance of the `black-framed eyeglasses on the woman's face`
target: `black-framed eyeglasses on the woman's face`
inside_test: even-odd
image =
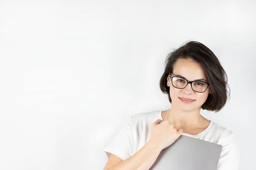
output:
[[[190,82],[189,80],[184,79],[183,77],[174,75],[171,75],[171,80],[172,86],[179,89],[186,88],[186,86],[190,83],[192,90],[198,93],[204,93],[207,90],[208,86],[210,85],[209,82],[197,80]]]

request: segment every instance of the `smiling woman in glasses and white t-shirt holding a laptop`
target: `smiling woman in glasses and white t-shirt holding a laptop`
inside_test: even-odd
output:
[[[167,111],[131,116],[105,148],[105,170],[148,170],[161,150],[182,134],[223,146],[217,170],[238,170],[239,152],[232,131],[201,116],[227,102],[227,75],[215,54],[200,42],[187,42],[166,58],[160,89]]]

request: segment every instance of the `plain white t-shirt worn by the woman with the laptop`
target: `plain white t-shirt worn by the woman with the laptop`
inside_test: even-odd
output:
[[[151,124],[162,118],[162,111],[151,113],[139,113],[131,116],[131,119],[119,130],[112,142],[105,148],[105,153],[112,153],[122,160],[134,155],[150,139]],[[182,133],[196,139],[222,145],[221,156],[217,170],[239,169],[239,148],[234,133],[214,122],[197,135]]]

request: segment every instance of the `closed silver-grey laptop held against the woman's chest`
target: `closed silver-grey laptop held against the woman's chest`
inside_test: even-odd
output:
[[[222,146],[181,135],[163,149],[150,170],[216,170]]]

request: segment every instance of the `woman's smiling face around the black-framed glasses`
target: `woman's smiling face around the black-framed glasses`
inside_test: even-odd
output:
[[[172,75],[179,75],[184,77],[188,81],[194,81],[198,79],[205,79],[209,82],[202,66],[193,61],[192,59],[178,59],[174,65]],[[191,84],[188,84],[186,88],[178,89],[173,87],[171,82],[171,76],[167,78],[168,86],[170,87],[170,96],[172,99],[172,107],[179,108],[182,111],[193,111],[195,109],[201,109],[201,106],[206,101],[209,92],[211,93],[210,86],[204,93],[198,93],[192,90]],[[192,99],[193,102],[186,102],[181,98]]]

